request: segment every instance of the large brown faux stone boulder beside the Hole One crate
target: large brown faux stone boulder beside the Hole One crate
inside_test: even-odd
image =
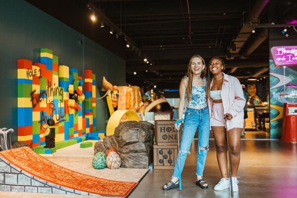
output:
[[[121,167],[148,168],[152,161],[153,134],[154,127],[149,122],[124,122],[116,127],[114,135],[103,139],[103,144],[96,143],[95,152],[115,148],[122,160]]]

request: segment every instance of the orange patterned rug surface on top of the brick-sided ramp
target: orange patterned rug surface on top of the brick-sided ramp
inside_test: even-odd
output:
[[[1,151],[0,155],[16,167],[42,180],[101,196],[126,197],[138,185],[137,182],[107,180],[69,170],[52,163],[29,147]]]

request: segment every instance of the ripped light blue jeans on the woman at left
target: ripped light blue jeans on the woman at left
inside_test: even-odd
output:
[[[184,168],[187,154],[198,128],[198,159],[197,175],[202,176],[209,143],[209,111],[208,107],[203,109],[187,108],[184,119],[182,141],[180,145],[181,171]],[[176,159],[173,177],[179,177],[178,156]]]

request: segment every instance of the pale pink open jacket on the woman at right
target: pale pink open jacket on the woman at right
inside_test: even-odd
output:
[[[229,76],[225,73],[221,97],[223,101],[224,115],[230,113],[232,115],[232,121],[243,122],[244,121],[244,107],[246,105],[246,99],[242,86],[237,78]],[[212,86],[213,79],[210,83]],[[209,115],[211,116],[212,111],[212,99],[207,99]],[[228,122],[227,122],[228,124]]]

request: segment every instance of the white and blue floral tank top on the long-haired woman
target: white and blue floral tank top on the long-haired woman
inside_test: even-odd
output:
[[[185,76],[184,78],[188,79],[188,76]],[[189,104],[187,101],[187,94],[186,94],[187,106],[190,106],[190,107],[207,106],[205,87],[206,87],[206,78],[203,78],[203,85],[201,87],[192,85],[192,96],[190,98]]]

